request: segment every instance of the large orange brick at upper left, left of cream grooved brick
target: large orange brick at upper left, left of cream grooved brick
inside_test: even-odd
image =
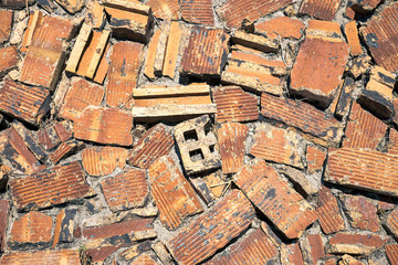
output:
[[[71,20],[44,17],[34,32],[19,80],[54,89],[65,61],[65,42],[73,36]]]

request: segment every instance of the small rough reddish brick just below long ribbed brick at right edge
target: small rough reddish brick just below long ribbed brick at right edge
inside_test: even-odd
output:
[[[371,232],[380,230],[377,209],[371,200],[362,195],[342,194],[341,201],[354,229],[369,230]]]

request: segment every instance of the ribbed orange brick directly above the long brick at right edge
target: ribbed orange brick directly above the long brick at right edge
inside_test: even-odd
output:
[[[363,109],[359,104],[354,103],[349,114],[343,147],[376,150],[386,131],[387,125],[385,123]]]

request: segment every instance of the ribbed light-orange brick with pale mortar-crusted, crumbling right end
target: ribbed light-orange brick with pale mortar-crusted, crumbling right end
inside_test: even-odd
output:
[[[302,138],[295,131],[264,124],[255,128],[254,145],[250,153],[268,161],[303,169],[304,150],[300,142]]]

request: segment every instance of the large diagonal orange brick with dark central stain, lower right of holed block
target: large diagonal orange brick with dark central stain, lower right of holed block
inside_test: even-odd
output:
[[[234,182],[287,239],[300,237],[317,219],[308,202],[264,160],[243,166]]]

